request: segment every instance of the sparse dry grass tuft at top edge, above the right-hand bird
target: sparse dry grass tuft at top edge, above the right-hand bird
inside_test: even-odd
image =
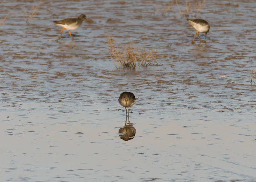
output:
[[[181,0],[181,3],[176,0],[177,8],[180,12],[181,17],[189,17],[194,16],[196,17],[199,12],[201,12],[201,9],[204,7],[206,0]],[[181,6],[183,8],[180,8]]]

